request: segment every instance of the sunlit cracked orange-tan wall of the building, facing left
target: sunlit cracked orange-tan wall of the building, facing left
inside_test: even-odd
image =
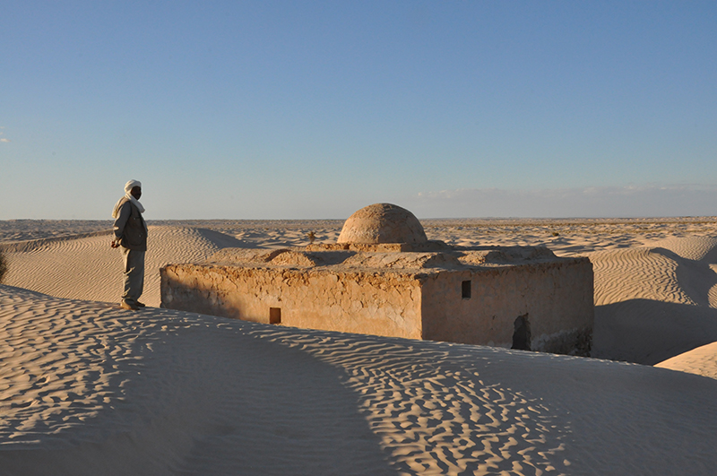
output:
[[[168,308],[264,324],[281,309],[281,325],[421,338],[421,291],[413,273],[169,264],[160,275]]]

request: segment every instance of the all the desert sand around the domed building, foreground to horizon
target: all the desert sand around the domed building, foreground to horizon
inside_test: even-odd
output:
[[[163,264],[341,224],[151,222],[131,312],[108,222],[0,222],[0,474],[714,473],[717,218],[423,221],[589,256],[598,359],[157,307]]]

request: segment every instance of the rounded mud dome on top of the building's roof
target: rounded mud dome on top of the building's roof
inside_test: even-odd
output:
[[[343,224],[338,243],[426,243],[416,216],[398,205],[375,203],[362,208]]]

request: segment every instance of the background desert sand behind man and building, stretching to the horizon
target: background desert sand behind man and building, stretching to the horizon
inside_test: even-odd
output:
[[[28,229],[19,235],[4,227],[4,236],[64,237],[22,247],[5,242],[6,247],[22,250],[7,254],[10,272],[5,282],[61,298],[117,302],[121,258],[108,247],[109,237],[69,239],[68,232],[62,231],[62,226],[70,227],[67,222],[49,222],[47,229],[42,224],[25,223]],[[308,231],[314,231],[320,242],[333,242],[341,229],[340,221],[190,224],[213,229],[151,227],[143,295],[148,305],[159,306],[163,264],[201,261],[220,247],[305,245]],[[717,341],[714,221],[428,221],[426,225],[429,238],[454,245],[545,245],[558,255],[588,255],[595,271],[595,357],[652,365]],[[80,222],[77,231],[89,229],[91,224]]]

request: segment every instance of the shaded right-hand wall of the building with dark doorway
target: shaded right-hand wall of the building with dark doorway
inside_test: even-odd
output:
[[[471,281],[470,298],[462,282]],[[587,258],[444,271],[423,284],[423,338],[511,347],[514,321],[527,315],[531,350],[586,355],[593,325]]]

